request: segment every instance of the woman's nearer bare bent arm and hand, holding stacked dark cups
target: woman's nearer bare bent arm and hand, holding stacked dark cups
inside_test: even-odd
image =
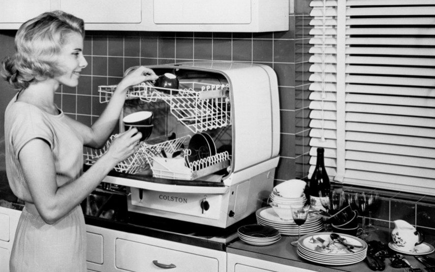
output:
[[[115,165],[138,149],[141,133],[136,128],[121,133],[108,151],[78,179],[57,187],[56,169],[50,146],[36,138],[24,145],[18,154],[24,178],[41,218],[55,223],[83,201]]]

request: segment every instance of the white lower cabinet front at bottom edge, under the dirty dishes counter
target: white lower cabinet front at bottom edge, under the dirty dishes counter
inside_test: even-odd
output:
[[[265,261],[257,258],[227,254],[227,272],[314,272],[305,268]]]

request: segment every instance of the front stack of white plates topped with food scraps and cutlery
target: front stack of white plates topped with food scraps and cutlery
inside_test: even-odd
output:
[[[298,255],[308,261],[325,265],[348,265],[360,262],[367,255],[367,243],[363,240],[347,234],[339,234],[346,239],[348,244],[361,246],[349,252],[343,245],[332,243],[329,235],[331,232],[318,232],[300,237],[298,241]],[[317,240],[320,237],[325,242]]]

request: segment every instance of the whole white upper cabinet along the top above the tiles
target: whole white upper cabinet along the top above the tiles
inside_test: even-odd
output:
[[[289,29],[290,0],[0,0],[0,28],[63,10],[86,30],[266,32]],[[3,7],[7,7],[4,9]]]

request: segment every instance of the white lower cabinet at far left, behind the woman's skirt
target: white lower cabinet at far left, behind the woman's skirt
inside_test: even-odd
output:
[[[0,207],[0,272],[9,272],[9,258],[21,211]]]

